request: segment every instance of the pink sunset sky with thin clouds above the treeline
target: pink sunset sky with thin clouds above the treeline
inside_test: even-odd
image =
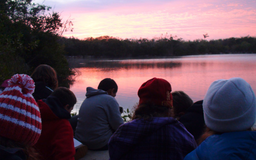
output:
[[[64,36],[185,40],[256,36],[256,0],[34,0],[73,19]]]

